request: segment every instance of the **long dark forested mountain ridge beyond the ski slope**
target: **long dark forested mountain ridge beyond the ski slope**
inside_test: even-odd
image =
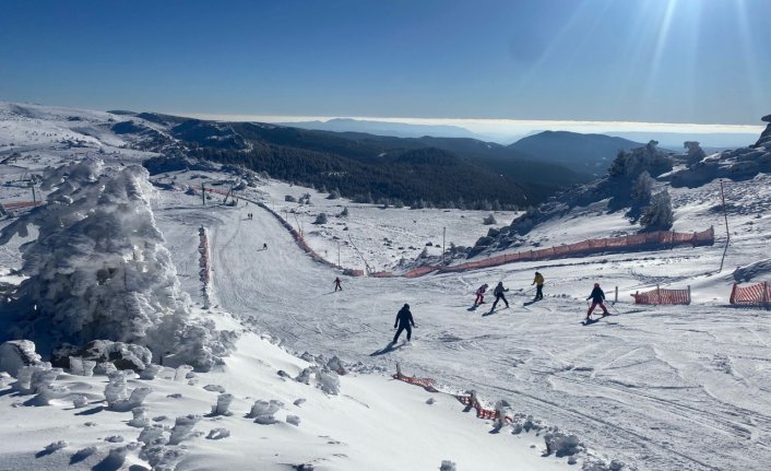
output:
[[[142,115],[138,115],[142,116]],[[165,121],[169,121],[165,118]],[[467,138],[395,138],[258,122],[186,120],[168,129],[182,153],[241,164],[363,200],[442,207],[530,205],[585,177],[505,145]]]

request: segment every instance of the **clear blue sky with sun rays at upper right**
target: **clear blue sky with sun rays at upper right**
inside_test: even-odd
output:
[[[759,125],[770,21],[771,0],[9,0],[0,99]]]

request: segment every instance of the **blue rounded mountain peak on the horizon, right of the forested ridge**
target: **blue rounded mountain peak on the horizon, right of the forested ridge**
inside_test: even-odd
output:
[[[567,166],[582,174],[604,174],[618,151],[643,144],[605,134],[544,131],[520,139],[509,149],[530,154],[538,162]]]

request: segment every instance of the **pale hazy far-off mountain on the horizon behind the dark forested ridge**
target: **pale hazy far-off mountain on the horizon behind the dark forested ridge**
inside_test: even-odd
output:
[[[472,139],[485,138],[484,136],[475,134],[474,132],[459,126],[412,125],[406,122],[373,121],[351,118],[333,118],[327,121],[277,122],[276,125],[300,129],[315,129],[319,131],[367,132],[369,134],[392,136],[396,138],[420,138],[424,136]]]

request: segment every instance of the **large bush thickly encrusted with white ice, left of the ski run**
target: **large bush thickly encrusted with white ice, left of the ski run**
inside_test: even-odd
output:
[[[2,245],[27,237],[29,226],[38,231],[21,248],[28,278],[11,310],[25,318],[17,325],[28,321],[21,333],[48,348],[105,339],[210,369],[235,338],[192,318],[146,198],[147,176],[140,166],[107,168],[98,158],[46,170],[47,203],[0,232]]]

